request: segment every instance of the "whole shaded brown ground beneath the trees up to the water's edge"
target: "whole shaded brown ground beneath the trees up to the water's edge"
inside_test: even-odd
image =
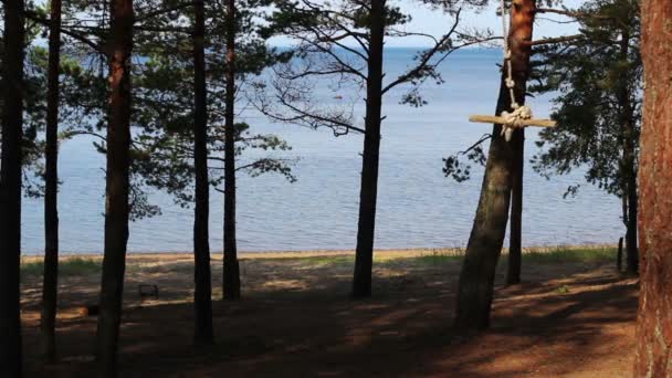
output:
[[[529,252],[529,251],[528,251]],[[630,377],[638,280],[612,249],[527,253],[523,283],[497,269],[492,327],[451,328],[459,251],[377,252],[374,297],[348,298],[351,253],[256,253],[241,259],[244,298],[221,300],[212,261],[217,344],[192,346],[192,256],[128,256],[120,377]],[[61,267],[59,363],[39,357],[41,263],[23,261],[27,376],[91,377],[99,256]],[[139,284],[159,286],[143,301]]]

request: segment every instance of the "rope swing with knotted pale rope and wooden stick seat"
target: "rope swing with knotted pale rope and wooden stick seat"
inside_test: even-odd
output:
[[[502,33],[504,36],[504,64],[506,70],[506,77],[504,78],[504,83],[506,85],[506,88],[508,90],[508,95],[511,96],[512,111],[504,111],[500,114],[500,116],[496,117],[474,115],[469,117],[469,120],[477,123],[494,123],[502,125],[502,136],[505,137],[506,141],[510,141],[513,136],[513,132],[517,128],[523,128],[526,126],[555,127],[556,123],[552,119],[534,119],[532,108],[527,105],[521,105],[516,102],[516,82],[513,76],[513,63],[511,62],[512,52],[508,43],[508,28],[506,27],[508,18],[506,17],[505,0],[501,0],[501,11]]]

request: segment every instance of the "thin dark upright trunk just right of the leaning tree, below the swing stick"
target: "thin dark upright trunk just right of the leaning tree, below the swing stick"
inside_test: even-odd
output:
[[[523,263],[523,177],[525,169],[525,129],[514,134],[512,140],[515,150],[515,171],[511,191],[511,234],[508,237],[508,270],[506,283],[521,283],[521,264]]]

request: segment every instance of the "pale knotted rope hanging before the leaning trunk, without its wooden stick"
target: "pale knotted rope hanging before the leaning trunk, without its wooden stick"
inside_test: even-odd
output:
[[[513,112],[502,112],[500,115],[502,118],[505,118],[505,123],[502,125],[502,135],[506,138],[506,141],[511,141],[513,136],[513,132],[516,128],[525,127],[521,120],[532,119],[532,108],[529,106],[523,105],[521,106],[516,102],[515,87],[516,82],[513,78],[513,64],[511,62],[511,48],[508,43],[508,30],[506,27],[506,3],[505,0],[501,0],[501,10],[502,10],[502,31],[503,31],[503,41],[504,41],[504,61],[506,64],[506,78],[504,83],[506,84],[506,88],[508,90],[508,95],[511,96],[511,107]]]

